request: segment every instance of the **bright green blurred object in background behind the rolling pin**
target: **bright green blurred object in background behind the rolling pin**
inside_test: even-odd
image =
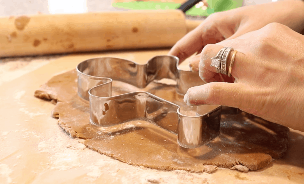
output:
[[[185,0],[186,2],[186,0]],[[193,6],[186,12],[186,15],[191,16],[208,16],[214,12],[222,12],[231,10],[234,8],[241,7],[243,0],[207,0],[209,7],[203,10],[202,7],[196,8]],[[157,9],[177,9],[181,4],[172,2],[143,2],[143,1],[132,1],[132,2],[117,2],[113,3],[112,6],[116,8],[124,8],[129,10],[157,10]]]

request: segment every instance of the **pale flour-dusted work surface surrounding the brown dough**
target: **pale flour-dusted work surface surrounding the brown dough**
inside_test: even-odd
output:
[[[243,173],[218,169],[212,174],[158,171],[130,166],[83,146],[59,128],[54,105],[33,93],[52,76],[88,58],[111,56],[144,63],[168,50],[70,55],[1,85],[1,183],[301,183],[304,133],[291,130],[287,154],[265,169]]]

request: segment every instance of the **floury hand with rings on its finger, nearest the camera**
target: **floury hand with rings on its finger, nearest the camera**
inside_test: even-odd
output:
[[[238,51],[231,71],[234,83],[210,66],[211,58],[223,47]],[[200,77],[209,83],[188,89],[184,98],[188,104],[236,107],[304,131],[304,35],[271,23],[206,45],[200,62],[192,64],[198,65]]]

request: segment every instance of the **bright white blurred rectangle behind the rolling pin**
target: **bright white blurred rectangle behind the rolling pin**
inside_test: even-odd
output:
[[[87,0],[48,0],[50,13],[85,13]]]

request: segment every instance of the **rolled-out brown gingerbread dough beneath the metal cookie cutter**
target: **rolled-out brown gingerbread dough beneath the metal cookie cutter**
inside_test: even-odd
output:
[[[89,104],[77,95],[76,71],[50,79],[35,92],[36,97],[56,97],[53,117],[72,137],[85,139],[90,149],[122,162],[161,170],[181,169],[192,172],[213,172],[216,167],[262,169],[272,159],[287,151],[288,132],[285,126],[265,121],[242,112],[222,115],[219,137],[197,149],[177,144],[177,135],[145,121],[133,121],[111,127],[98,127],[89,122]],[[113,82],[113,95],[134,91],[134,86]],[[152,94],[184,105],[174,85],[152,82],[144,89]],[[40,95],[44,93],[44,95]],[[45,95],[50,94],[50,95]],[[185,106],[186,107],[186,106]],[[168,119],[170,121],[170,119]],[[176,126],[177,128],[177,126]],[[143,139],[142,139],[143,138]],[[245,170],[243,167],[241,168]]]

